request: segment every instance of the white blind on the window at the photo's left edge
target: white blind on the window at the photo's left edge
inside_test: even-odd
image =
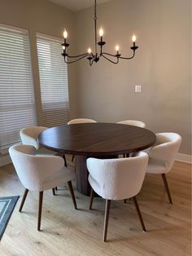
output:
[[[0,24],[0,154],[36,124],[28,31]]]

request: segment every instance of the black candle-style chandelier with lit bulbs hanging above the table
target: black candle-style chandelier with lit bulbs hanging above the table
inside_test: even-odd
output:
[[[106,60],[109,60],[111,63],[113,64],[118,64],[120,59],[123,60],[131,60],[133,59],[134,55],[135,55],[135,51],[137,50],[138,46],[136,46],[135,41],[136,41],[136,36],[133,34],[132,37],[132,41],[133,41],[133,46],[130,47],[130,49],[133,51],[133,55],[131,57],[122,57],[120,55],[120,47],[116,46],[116,55],[107,53],[107,52],[103,52],[103,46],[106,44],[106,42],[103,41],[103,28],[101,27],[101,29],[99,29],[99,36],[100,36],[100,41],[97,42],[97,0],[94,0],[94,36],[95,36],[95,40],[94,40],[94,47],[95,47],[95,53],[93,53],[91,51],[91,49],[88,49],[88,52],[81,54],[81,55],[69,55],[67,52],[69,43],[67,42],[67,38],[68,38],[68,32],[66,31],[66,29],[63,32],[63,38],[64,38],[64,42],[61,44],[61,46],[63,46],[63,57],[64,57],[64,62],[67,64],[72,64],[78,60],[82,60],[84,58],[87,58],[87,60],[89,60],[89,65],[91,66],[94,62],[98,62],[98,60],[100,60],[101,57],[103,57]],[[99,51],[98,51],[98,46],[99,46]],[[69,60],[71,59],[71,60]]]

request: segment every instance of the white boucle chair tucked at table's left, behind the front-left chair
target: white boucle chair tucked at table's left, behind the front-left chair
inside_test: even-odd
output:
[[[37,155],[48,155],[55,156],[58,153],[51,151],[47,148],[43,148],[39,145],[37,137],[40,135],[41,131],[47,130],[48,128],[45,126],[29,126],[22,130],[20,130],[20,139],[24,145],[31,145],[37,149]],[[67,166],[67,161],[65,156],[62,156],[65,162],[65,166]]]

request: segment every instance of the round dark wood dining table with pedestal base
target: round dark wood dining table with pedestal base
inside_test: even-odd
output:
[[[156,141],[151,130],[116,123],[81,123],[62,125],[43,130],[38,136],[41,146],[75,155],[76,189],[89,196],[89,157],[115,158],[121,154],[150,148]]]

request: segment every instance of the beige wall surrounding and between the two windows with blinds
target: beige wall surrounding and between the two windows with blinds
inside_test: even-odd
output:
[[[58,38],[63,37],[66,28],[71,42],[74,30],[74,14],[64,7],[59,7],[47,0],[0,0],[0,23],[29,30],[32,53],[33,81],[37,104],[37,122],[41,125],[41,96],[37,65],[36,33],[45,33]],[[72,45],[74,47],[74,44]],[[61,49],[62,51],[62,49]],[[73,86],[74,66],[69,66],[69,97],[71,117],[76,113],[76,91]]]

